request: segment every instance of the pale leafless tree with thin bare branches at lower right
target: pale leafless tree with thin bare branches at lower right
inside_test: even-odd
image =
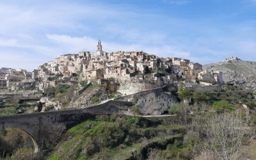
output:
[[[249,143],[255,132],[241,113],[214,114],[207,125],[209,148],[217,159],[237,159],[241,147]]]

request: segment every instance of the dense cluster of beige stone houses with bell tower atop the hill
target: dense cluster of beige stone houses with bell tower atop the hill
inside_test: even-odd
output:
[[[53,61],[40,65],[33,72],[24,69],[1,68],[0,86],[12,90],[38,88],[44,90],[61,80],[69,83],[84,79],[116,79],[118,81],[144,81],[159,85],[180,79],[222,83],[221,72],[202,70],[202,65],[183,58],[159,58],[143,51],[102,51],[99,40],[97,51],[63,54]],[[67,81],[67,80],[66,80]]]

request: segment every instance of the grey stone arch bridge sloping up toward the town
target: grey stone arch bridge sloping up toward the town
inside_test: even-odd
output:
[[[33,140],[35,152],[46,145],[56,145],[61,134],[70,127],[95,115],[122,113],[132,106],[132,102],[109,100],[104,104],[84,109],[51,111],[23,115],[0,116],[2,131],[6,128],[20,129]]]

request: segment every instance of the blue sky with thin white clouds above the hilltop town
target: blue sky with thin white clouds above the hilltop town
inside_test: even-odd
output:
[[[256,0],[0,1],[0,67],[95,52],[99,38],[107,52],[256,61]]]

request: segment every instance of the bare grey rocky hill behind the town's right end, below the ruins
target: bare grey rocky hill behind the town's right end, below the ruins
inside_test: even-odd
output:
[[[204,69],[220,70],[223,72],[223,81],[243,85],[256,90],[256,62],[230,61],[204,65]]]

